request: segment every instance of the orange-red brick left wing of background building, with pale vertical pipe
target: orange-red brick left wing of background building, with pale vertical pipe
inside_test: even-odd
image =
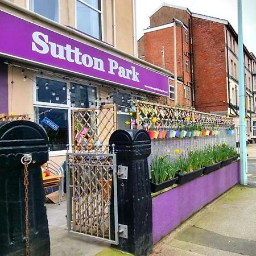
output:
[[[194,94],[189,14],[186,10],[181,10],[180,14],[171,16],[169,11],[169,7],[164,4],[150,16],[150,27],[144,30],[144,35],[138,40],[138,57],[172,72],[174,75],[170,80],[168,103],[191,108],[194,105]],[[175,102],[175,80],[177,102]]]

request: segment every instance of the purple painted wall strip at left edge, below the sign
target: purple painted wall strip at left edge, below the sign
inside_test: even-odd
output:
[[[0,59],[0,114],[8,113],[8,66]]]

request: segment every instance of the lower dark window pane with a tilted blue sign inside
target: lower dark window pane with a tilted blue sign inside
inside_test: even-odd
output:
[[[35,107],[36,121],[44,127],[49,151],[66,150],[68,144],[68,110]]]

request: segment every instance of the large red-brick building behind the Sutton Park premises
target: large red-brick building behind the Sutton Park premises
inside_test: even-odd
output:
[[[203,112],[230,114],[238,121],[238,35],[228,20],[163,3],[150,16],[150,27],[138,41],[138,57],[174,72],[174,19],[183,24],[176,26],[177,77],[183,82],[177,86],[179,103]],[[165,50],[164,57],[161,49]],[[256,119],[251,123],[256,101],[255,56],[245,46],[243,55],[247,126],[251,127],[256,126]],[[186,101],[185,88],[191,101]]]

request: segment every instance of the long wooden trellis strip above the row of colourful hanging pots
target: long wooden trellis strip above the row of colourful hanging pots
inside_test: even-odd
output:
[[[232,118],[222,115],[175,108],[174,106],[154,104],[146,101],[136,101],[135,106],[138,127],[143,126],[143,122],[150,122],[149,120],[152,118],[156,118],[158,123],[164,127],[180,125],[180,123],[195,123],[215,127],[233,126]]]

